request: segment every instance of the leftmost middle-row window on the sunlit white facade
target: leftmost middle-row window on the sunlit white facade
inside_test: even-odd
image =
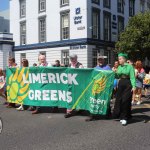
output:
[[[26,22],[20,23],[20,44],[26,44]]]

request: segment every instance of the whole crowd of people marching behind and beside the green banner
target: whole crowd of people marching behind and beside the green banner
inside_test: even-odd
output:
[[[78,56],[76,54],[70,55],[70,68],[84,68],[82,63],[78,62]],[[17,64],[15,59],[9,58],[9,68],[16,68]],[[46,61],[46,57],[40,54],[38,57],[39,64],[34,63],[33,66],[49,66],[49,67],[66,67],[61,64],[59,60],[56,60],[54,64],[49,64]],[[29,67],[29,62],[27,59],[22,60],[22,67]],[[105,56],[98,56],[97,66],[95,69],[98,70],[112,70],[115,73],[114,80],[114,90],[112,98],[115,98],[115,104],[113,113],[111,113],[111,107],[109,105],[107,116],[111,116],[115,119],[120,119],[120,123],[125,126],[128,120],[132,118],[131,106],[140,105],[142,103],[142,89],[145,90],[145,95],[147,95],[148,88],[150,87],[150,70],[144,69],[142,62],[140,60],[135,63],[128,60],[128,55],[125,53],[120,53],[118,55],[118,60],[115,61],[114,66],[111,68],[109,65],[105,64]],[[6,75],[2,69],[0,69],[0,96],[6,99],[5,105],[7,108],[16,108],[16,104],[7,102],[7,92],[6,92]],[[25,109],[24,105],[20,105],[16,109],[18,111],[23,111]],[[53,112],[58,111],[58,107],[53,107]],[[41,107],[28,106],[28,110],[32,111],[32,114],[38,114],[41,111]],[[78,111],[79,113],[80,111]],[[69,118],[77,113],[76,110],[67,109],[65,118]],[[95,120],[96,116],[91,114],[86,121]]]

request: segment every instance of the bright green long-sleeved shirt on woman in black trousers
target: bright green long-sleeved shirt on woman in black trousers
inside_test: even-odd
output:
[[[136,87],[135,70],[132,65],[128,63],[125,63],[124,65],[120,65],[117,69],[116,75],[118,78],[120,78],[122,75],[129,76],[132,87],[133,88]]]

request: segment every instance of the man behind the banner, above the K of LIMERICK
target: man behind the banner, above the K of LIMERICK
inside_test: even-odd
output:
[[[70,56],[70,64],[69,64],[69,67],[70,68],[84,68],[83,65],[78,62],[78,56],[76,54],[71,54]],[[73,110],[72,109],[67,109],[67,112],[65,114],[65,118],[69,118],[73,116]]]

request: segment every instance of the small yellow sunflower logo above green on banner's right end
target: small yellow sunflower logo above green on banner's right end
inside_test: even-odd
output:
[[[106,87],[106,76],[101,77],[98,80],[94,81],[93,87],[92,87],[92,94],[95,96],[96,94],[99,94],[102,92]]]

